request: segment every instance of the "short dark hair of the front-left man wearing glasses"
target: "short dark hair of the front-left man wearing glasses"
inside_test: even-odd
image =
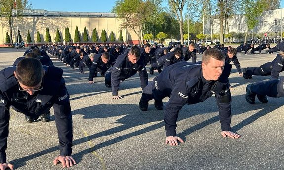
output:
[[[16,67],[17,79],[25,86],[36,86],[41,82],[44,75],[40,60],[35,58],[24,58]]]

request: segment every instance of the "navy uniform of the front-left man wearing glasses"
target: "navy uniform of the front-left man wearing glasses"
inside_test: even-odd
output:
[[[0,71],[0,163],[6,162],[9,107],[27,116],[38,118],[41,114],[54,109],[61,156],[72,153],[72,117],[69,94],[62,78],[63,70],[54,66],[44,66],[43,89],[33,96],[19,90],[14,76],[16,67]]]

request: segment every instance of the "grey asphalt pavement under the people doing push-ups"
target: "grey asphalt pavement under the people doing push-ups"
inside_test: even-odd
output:
[[[0,70],[12,65],[25,50],[0,49]],[[200,61],[201,55],[197,56]],[[243,69],[270,62],[276,54],[240,53],[237,57]],[[182,108],[177,133],[184,142],[170,146],[165,144],[163,111],[155,109],[154,101],[149,102],[146,112],[138,107],[142,93],[138,74],[121,83],[121,100],[111,100],[111,89],[105,87],[100,74],[94,84],[88,84],[87,68],[86,74],[80,74],[78,69],[52,60],[64,70],[70,93],[72,155],[77,162],[70,170],[284,170],[284,98],[268,98],[267,104],[256,99],[254,105],[245,100],[246,85],[269,76],[245,80],[232,67],[231,126],[241,138],[221,136],[213,96]],[[151,81],[158,72],[148,75]],[[167,101],[165,98],[164,104]],[[27,123],[23,114],[10,110],[7,160],[17,170],[62,170],[61,164],[52,163],[59,155],[53,109],[52,120],[47,123]]]

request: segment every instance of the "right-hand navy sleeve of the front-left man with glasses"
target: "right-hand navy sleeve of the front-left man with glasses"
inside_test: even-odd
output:
[[[69,94],[64,84],[60,86],[53,109],[58,132],[60,156],[70,156],[73,140],[72,115]]]

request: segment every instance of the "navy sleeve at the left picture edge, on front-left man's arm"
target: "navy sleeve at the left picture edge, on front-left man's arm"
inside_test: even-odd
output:
[[[10,111],[7,99],[0,92],[0,163],[6,163],[7,139],[9,135]]]

